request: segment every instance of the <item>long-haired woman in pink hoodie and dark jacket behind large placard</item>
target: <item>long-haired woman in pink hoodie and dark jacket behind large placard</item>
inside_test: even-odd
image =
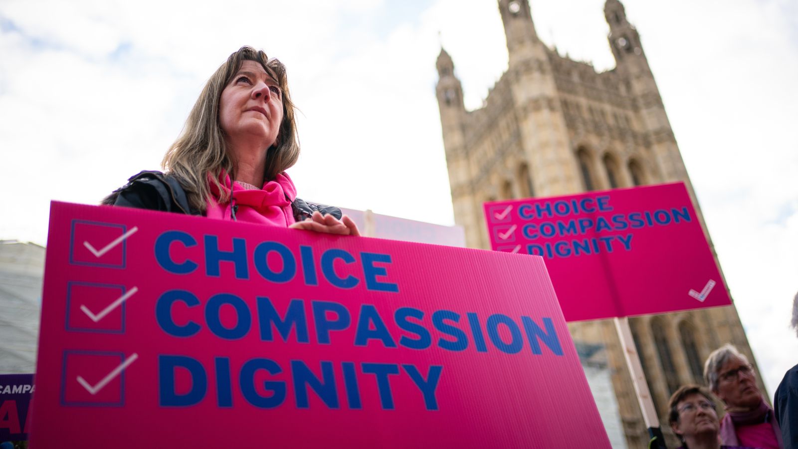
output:
[[[298,157],[286,68],[244,46],[205,84],[164,156],[166,173],[138,173],[103,203],[359,235],[341,209],[296,197],[285,170]]]

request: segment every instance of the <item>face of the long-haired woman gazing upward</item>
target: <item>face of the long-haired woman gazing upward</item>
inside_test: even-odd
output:
[[[244,61],[222,91],[219,125],[227,138],[261,141],[263,149],[277,141],[282,123],[282,91],[259,62]]]

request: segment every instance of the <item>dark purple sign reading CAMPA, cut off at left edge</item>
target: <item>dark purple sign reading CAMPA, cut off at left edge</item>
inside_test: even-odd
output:
[[[0,442],[28,439],[34,375],[0,374]]]

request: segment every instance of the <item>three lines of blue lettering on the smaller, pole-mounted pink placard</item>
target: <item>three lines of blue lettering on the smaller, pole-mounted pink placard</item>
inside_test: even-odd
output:
[[[517,210],[520,219],[535,221],[521,227],[524,238],[546,240],[527,244],[527,252],[550,259],[614,252],[616,249],[630,251],[634,236],[631,231],[692,221],[686,207],[613,214],[610,197],[606,195],[523,204]],[[591,217],[569,218],[584,213],[591,214]]]

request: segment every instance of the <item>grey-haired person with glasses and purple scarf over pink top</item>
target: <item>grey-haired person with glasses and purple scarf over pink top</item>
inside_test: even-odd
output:
[[[731,344],[718,348],[704,364],[709,389],[726,404],[721,443],[783,449],[773,409],[764,402],[749,360]]]

